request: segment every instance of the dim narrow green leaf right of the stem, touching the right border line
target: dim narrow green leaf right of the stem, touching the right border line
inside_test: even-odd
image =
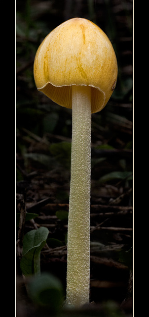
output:
[[[102,176],[99,180],[99,184],[109,182],[113,179],[127,179],[127,180],[132,180],[132,173],[131,172],[120,172],[120,171],[115,171],[108,173],[104,176]]]

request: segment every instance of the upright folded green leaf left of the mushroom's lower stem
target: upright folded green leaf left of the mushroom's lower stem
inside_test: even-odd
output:
[[[40,251],[46,243],[48,229],[40,227],[29,231],[23,239],[23,258],[20,261],[22,273],[27,275],[40,275]]]

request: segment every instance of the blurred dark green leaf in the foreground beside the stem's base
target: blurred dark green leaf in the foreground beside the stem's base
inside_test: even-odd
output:
[[[58,311],[63,301],[63,287],[60,280],[49,273],[34,277],[28,285],[32,301],[43,309]]]

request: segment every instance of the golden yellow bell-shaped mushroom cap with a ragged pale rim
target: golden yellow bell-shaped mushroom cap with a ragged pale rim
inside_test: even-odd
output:
[[[91,87],[92,113],[106,106],[117,80],[117,60],[107,35],[84,18],[70,19],[50,32],[34,62],[37,89],[72,108],[72,85]]]

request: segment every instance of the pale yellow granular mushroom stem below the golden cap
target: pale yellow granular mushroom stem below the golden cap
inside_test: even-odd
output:
[[[72,86],[72,159],[68,220],[67,304],[89,303],[91,88]]]

